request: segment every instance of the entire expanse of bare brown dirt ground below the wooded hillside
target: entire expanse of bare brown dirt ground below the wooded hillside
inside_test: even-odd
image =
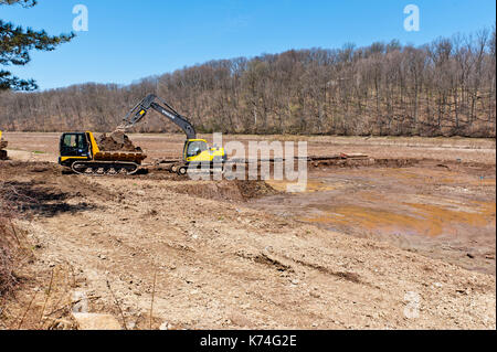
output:
[[[151,158],[182,148],[181,136],[130,137]],[[6,135],[0,184],[33,201],[19,210],[30,255],[0,328],[71,329],[82,303],[127,329],[496,328],[495,141],[311,137],[309,154],[416,162],[311,169],[289,194],[66,174],[57,138]]]

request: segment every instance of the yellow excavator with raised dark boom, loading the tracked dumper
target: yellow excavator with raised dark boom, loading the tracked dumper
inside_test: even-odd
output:
[[[162,105],[161,105],[162,104]],[[148,113],[154,109],[160,114],[162,118],[172,121],[180,127],[187,135],[184,141],[182,160],[171,166],[171,171],[180,175],[188,172],[188,168],[209,163],[210,167],[222,166],[226,161],[226,154],[221,147],[209,147],[207,140],[197,138],[195,129],[192,124],[178,114],[169,104],[154,94],[146,96],[135,107],[133,107],[123,120],[118,129],[126,130],[135,127]]]

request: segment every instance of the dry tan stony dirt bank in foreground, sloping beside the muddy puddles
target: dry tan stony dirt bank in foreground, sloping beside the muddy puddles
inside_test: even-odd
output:
[[[32,255],[2,328],[18,327],[31,300],[25,327],[71,328],[81,297],[129,329],[149,328],[152,297],[155,329],[496,327],[491,275],[251,209],[243,186],[203,181],[225,190],[214,199],[201,182],[149,177],[2,164],[2,185],[38,199],[20,209]],[[417,318],[405,313],[412,297]]]

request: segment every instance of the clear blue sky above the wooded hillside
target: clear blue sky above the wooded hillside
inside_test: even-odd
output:
[[[494,0],[39,0],[32,9],[0,7],[0,18],[71,32],[78,3],[88,9],[89,31],[54,52],[33,52],[29,65],[10,67],[14,74],[41,89],[129,84],[215,58],[392,39],[424,44],[491,28],[496,19]],[[410,3],[420,8],[419,32],[403,28]]]

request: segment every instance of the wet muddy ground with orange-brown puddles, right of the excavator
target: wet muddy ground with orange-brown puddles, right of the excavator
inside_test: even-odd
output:
[[[422,162],[406,168],[320,169],[305,192],[251,206],[331,231],[373,237],[462,267],[494,274],[495,169]]]

